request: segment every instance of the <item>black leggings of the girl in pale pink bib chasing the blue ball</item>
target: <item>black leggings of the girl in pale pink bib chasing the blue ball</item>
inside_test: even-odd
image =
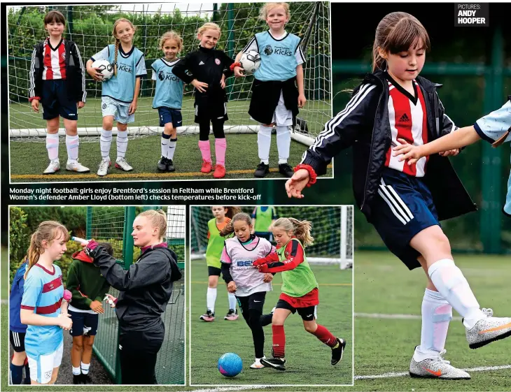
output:
[[[253,293],[248,297],[236,297],[241,314],[252,331],[255,358],[262,358],[265,355],[265,331],[262,331],[260,322],[265,297],[266,291]]]

